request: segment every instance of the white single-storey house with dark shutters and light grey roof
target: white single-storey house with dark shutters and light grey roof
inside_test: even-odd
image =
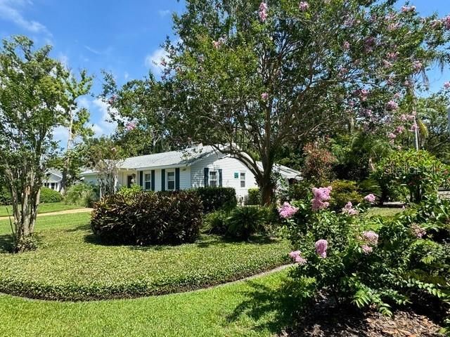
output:
[[[136,183],[144,190],[174,191],[188,188],[233,187],[238,199],[248,197],[248,189],[257,187],[255,176],[241,161],[209,146],[184,151],[130,157],[118,164],[117,187]],[[300,179],[300,172],[285,166],[277,168],[286,180]],[[81,173],[85,183],[97,183],[97,173]]]

